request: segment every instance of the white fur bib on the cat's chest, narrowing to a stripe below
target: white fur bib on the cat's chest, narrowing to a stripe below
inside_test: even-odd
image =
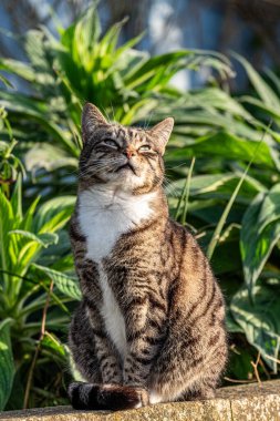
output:
[[[103,292],[101,312],[114,345],[126,355],[125,321],[110,287],[102,259],[110,255],[120,236],[151,218],[154,193],[141,196],[89,189],[80,195],[79,224],[86,237],[86,257],[97,264]]]

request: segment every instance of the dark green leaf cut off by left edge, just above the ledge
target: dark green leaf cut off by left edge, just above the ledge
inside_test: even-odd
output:
[[[14,376],[10,325],[11,319],[0,324],[0,410],[3,410],[8,402]]]

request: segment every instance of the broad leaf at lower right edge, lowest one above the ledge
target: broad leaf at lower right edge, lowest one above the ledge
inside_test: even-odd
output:
[[[251,302],[247,287],[242,287],[230,305],[231,314],[242,328],[248,342],[261,352],[274,372],[280,349],[279,292],[276,287],[253,286]]]

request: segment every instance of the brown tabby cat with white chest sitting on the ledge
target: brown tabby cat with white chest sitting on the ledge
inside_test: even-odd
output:
[[[70,349],[84,382],[76,409],[210,399],[227,361],[225,304],[193,235],[163,189],[174,125],[108,123],[86,103],[70,237],[83,299]]]

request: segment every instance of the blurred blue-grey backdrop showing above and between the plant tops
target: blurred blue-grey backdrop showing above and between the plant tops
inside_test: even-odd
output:
[[[24,58],[12,38],[27,30],[46,25],[55,33],[55,21],[69,25],[91,0],[2,0],[0,4],[0,52]],[[257,70],[280,65],[280,1],[279,0],[143,0],[138,2],[102,0],[98,12],[104,31],[114,22],[128,18],[120,42],[139,33],[144,37],[137,48],[152,54],[186,49],[236,51]],[[22,19],[22,17],[24,17]],[[9,37],[12,34],[12,38]],[[240,68],[238,69],[240,70]],[[187,72],[176,75],[185,89],[203,83],[204,74],[193,78]],[[246,74],[238,72],[234,90],[248,85]]]

